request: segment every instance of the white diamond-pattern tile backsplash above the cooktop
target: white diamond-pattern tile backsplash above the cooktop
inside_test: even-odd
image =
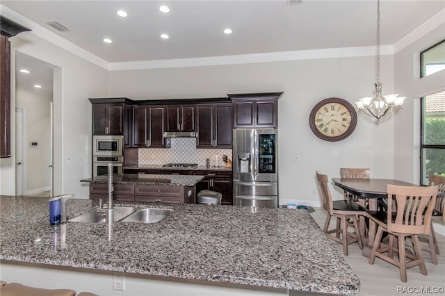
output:
[[[172,147],[168,149],[138,149],[138,165],[165,165],[165,163],[197,163],[215,165],[218,155],[218,166],[223,166],[223,155],[232,159],[232,149],[197,149],[196,138],[172,138]]]

